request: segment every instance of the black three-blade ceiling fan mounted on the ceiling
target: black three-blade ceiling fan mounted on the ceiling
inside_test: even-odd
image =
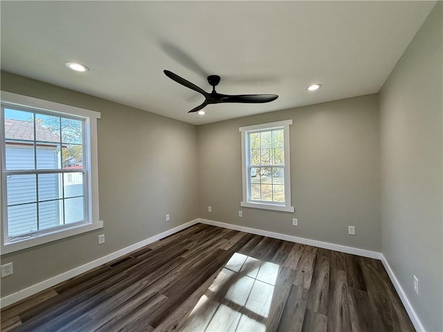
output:
[[[219,104],[221,102],[244,102],[244,103],[262,103],[262,102],[272,102],[273,100],[278,98],[278,95],[223,95],[221,93],[217,93],[215,91],[215,86],[219,84],[220,77],[218,75],[209,75],[208,83],[210,86],[213,86],[213,91],[208,93],[203,89],[199,88],[199,86],[185,80],[183,77],[180,77],[177,74],[172,73],[172,71],[163,71],[166,76],[168,76],[171,80],[186,86],[189,89],[197,91],[204,95],[205,101],[203,104],[191,109],[188,113],[197,112],[209,104]]]

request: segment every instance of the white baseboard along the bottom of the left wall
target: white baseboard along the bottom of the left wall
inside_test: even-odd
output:
[[[64,282],[68,279],[71,279],[72,277],[80,275],[81,273],[85,273],[93,268],[96,268],[97,266],[100,266],[102,264],[106,264],[109,261],[113,261],[114,259],[117,259],[118,257],[121,257],[123,255],[127,255],[127,254],[129,254],[129,252],[133,252],[134,250],[137,250],[137,249],[140,249],[144,246],[147,246],[148,244],[150,244],[152,242],[155,242],[157,240],[168,237],[171,234],[174,234],[174,233],[177,233],[181,230],[184,230],[185,228],[195,225],[198,222],[199,222],[199,219],[195,219],[195,220],[189,221],[188,223],[183,223],[183,225],[179,225],[179,226],[172,228],[170,230],[167,230],[163,233],[154,235],[154,237],[150,237],[149,239],[145,239],[141,242],[135,243],[132,246],[128,246],[128,247],[120,249],[116,252],[112,252],[111,254],[101,257],[99,259],[96,259],[95,261],[90,261],[87,264],[84,264],[82,266],[78,266],[77,268],[73,268],[72,270],[66,271],[65,273],[62,273],[60,275],[56,275],[55,277],[52,277],[51,279],[46,279],[44,282],[39,282],[39,284],[35,284],[35,285],[30,286],[28,288],[24,288],[21,291],[18,291],[17,293],[12,293],[11,295],[2,297],[0,299],[0,308],[10,306],[10,304],[14,304],[15,302],[19,302],[21,299],[25,299],[26,297],[37,294],[41,291],[44,291],[47,288],[51,288],[57,284],[60,284],[60,282]]]

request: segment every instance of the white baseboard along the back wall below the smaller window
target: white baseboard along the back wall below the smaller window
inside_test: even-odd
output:
[[[292,235],[269,232],[267,230],[258,230],[257,228],[248,228],[239,225],[233,225],[231,223],[220,223],[219,221],[213,221],[208,219],[199,219],[200,223],[206,223],[208,225],[219,226],[222,228],[229,228],[230,230],[239,230],[242,232],[247,232],[251,234],[263,235],[264,237],[272,237],[273,239],[280,239],[285,241],[297,242],[302,244],[307,244],[309,246],[325,248],[330,250],[336,250],[339,252],[346,252],[347,254],[359,255],[363,257],[369,257],[374,259],[381,259],[381,253],[371,250],[341,246],[340,244],[317,241],[312,239],[306,239],[304,237],[293,237]]]

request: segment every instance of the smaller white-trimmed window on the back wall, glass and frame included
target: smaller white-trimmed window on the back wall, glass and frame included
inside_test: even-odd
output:
[[[289,167],[292,120],[241,127],[243,200],[240,205],[293,212]]]

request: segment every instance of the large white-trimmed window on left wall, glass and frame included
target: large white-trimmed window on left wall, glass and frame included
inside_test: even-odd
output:
[[[1,92],[2,253],[102,227],[100,113]]]

